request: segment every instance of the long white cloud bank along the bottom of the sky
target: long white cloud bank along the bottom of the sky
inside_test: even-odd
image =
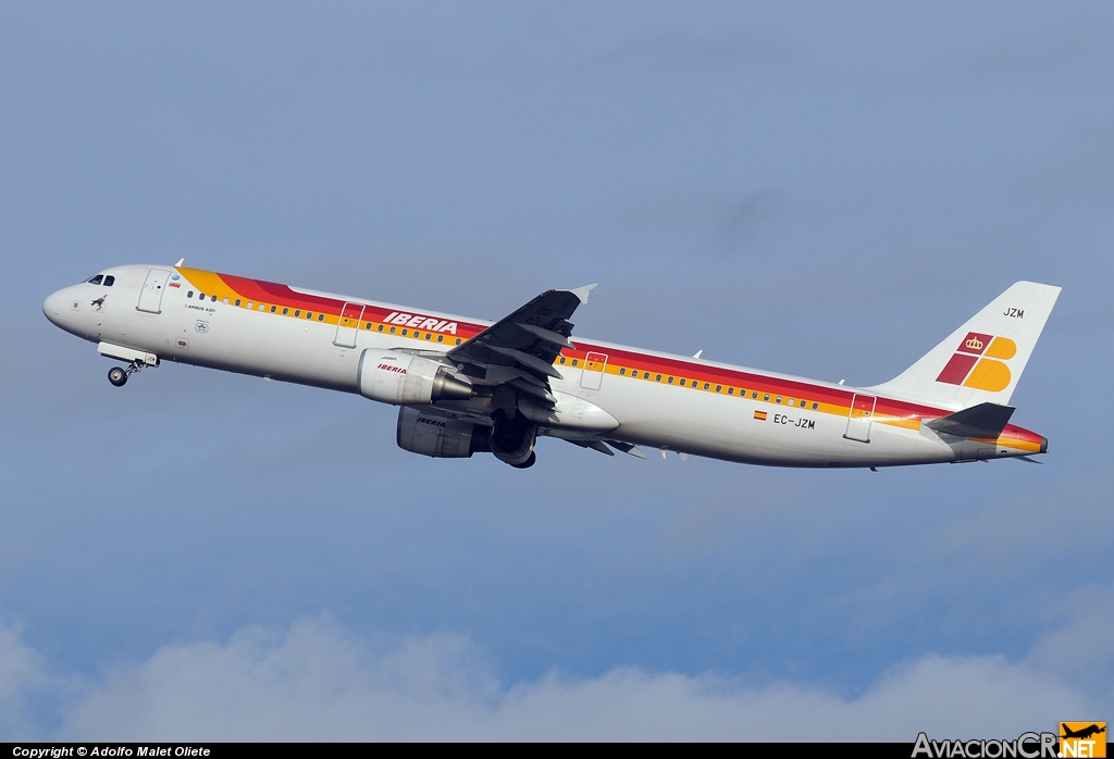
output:
[[[929,655],[854,698],[719,674],[620,668],[502,687],[451,634],[377,648],[328,615],[285,634],[173,644],[119,669],[70,713],[63,737],[117,740],[912,740],[1013,737],[1096,713],[1029,663]]]

